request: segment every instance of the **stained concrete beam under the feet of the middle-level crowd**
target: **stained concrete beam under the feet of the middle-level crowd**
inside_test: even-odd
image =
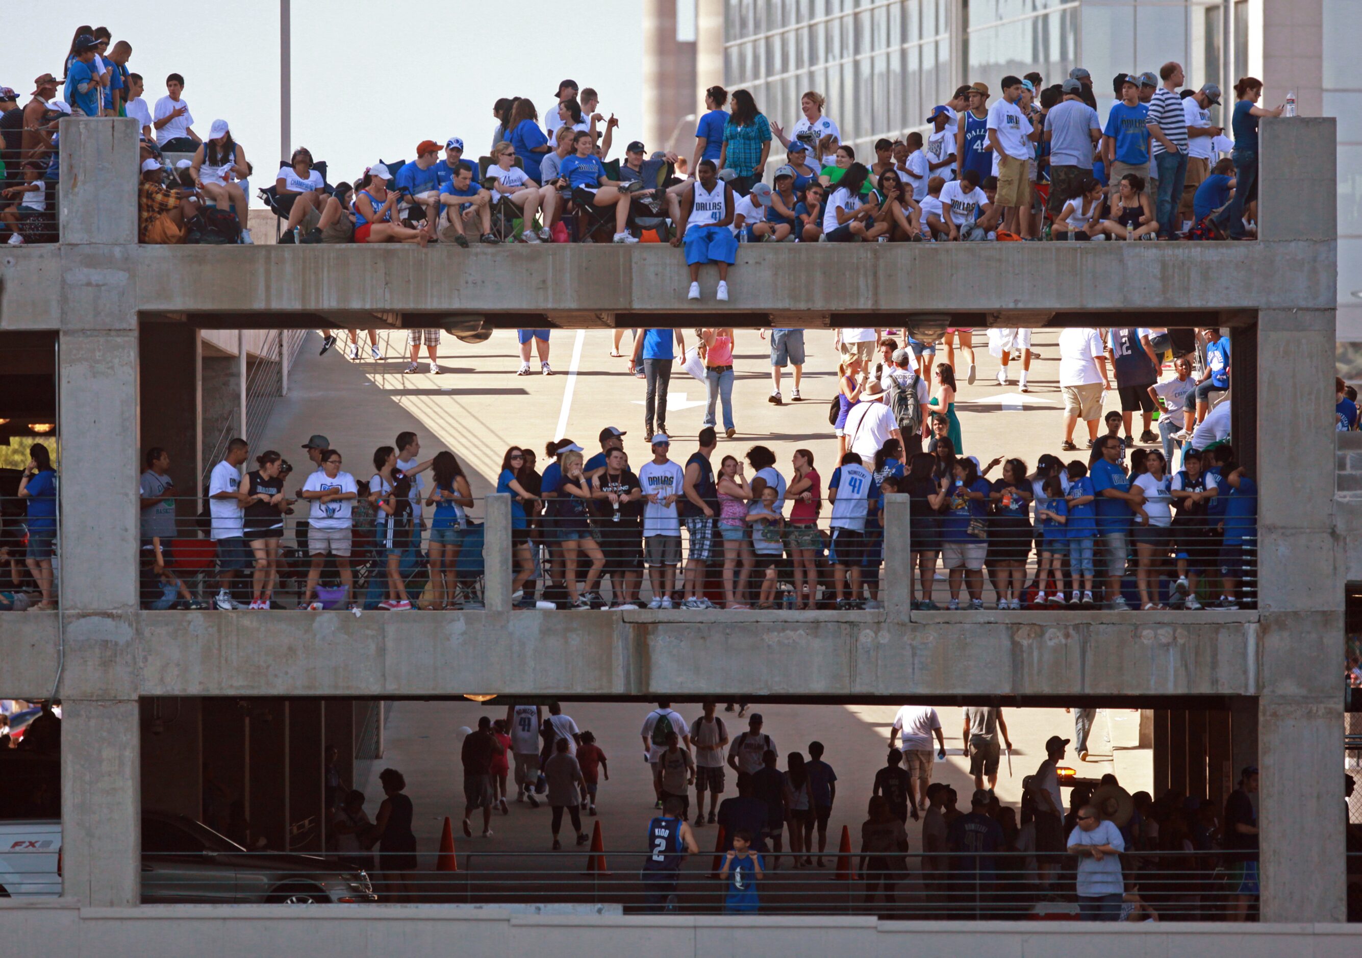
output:
[[[106,620],[68,615],[61,691],[71,698],[731,692],[843,700],[1257,694],[1252,613],[1215,621],[1137,613],[1057,613],[1043,621],[1019,613],[917,616],[902,623],[877,612],[760,619],[643,611],[360,619],[150,612],[132,615],[133,639],[124,643],[95,638],[110,628]],[[4,692],[50,692],[56,615],[7,616],[0,625]],[[74,642],[74,634],[86,638]],[[105,687],[110,654],[135,660],[127,670],[133,688]]]

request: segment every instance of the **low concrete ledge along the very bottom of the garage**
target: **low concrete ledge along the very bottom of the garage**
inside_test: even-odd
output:
[[[1234,954],[1237,958],[1336,958],[1357,954],[1362,927],[1344,924],[1148,923],[1091,925],[1064,921],[880,921],[840,916],[511,916],[496,909],[439,905],[143,906],[82,909],[0,906],[0,935],[14,954],[138,955],[345,954],[410,958],[449,954],[588,954],[655,958],[857,954],[986,954],[1024,958],[1114,958]],[[911,936],[907,938],[907,936]]]

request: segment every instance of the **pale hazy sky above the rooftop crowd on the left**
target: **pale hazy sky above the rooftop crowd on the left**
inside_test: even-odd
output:
[[[278,0],[237,0],[227,16],[208,19],[197,15],[196,4],[169,0],[49,0],[42,10],[41,18],[25,25],[23,42],[8,44],[0,61],[0,86],[14,87],[20,106],[34,78],[48,71],[64,75],[78,26],[106,26],[114,41],[132,44],[128,68],[146,79],[148,106],[165,95],[168,74],[183,74],[195,132],[207,136],[214,120],[226,120],[256,168],[259,185],[274,172],[262,176],[263,168],[290,151],[279,144]],[[576,16],[557,0],[518,0],[512,20],[503,26],[452,16],[454,11],[454,4],[433,0],[384,0],[379,7],[291,0],[290,146],[306,146],[327,161],[332,183],[358,177],[380,158],[410,159],[424,139],[443,144],[462,136],[467,153],[485,155],[498,97],[528,97],[542,123],[563,79],[597,89],[601,112],[620,119],[616,139],[628,142],[639,134],[636,0],[597,0],[590,27],[572,26]],[[542,38],[560,27],[588,33],[590,41],[582,50],[564,45],[554,55],[554,44]],[[440,34],[452,40],[437,45]],[[528,40],[534,35],[541,41]]]

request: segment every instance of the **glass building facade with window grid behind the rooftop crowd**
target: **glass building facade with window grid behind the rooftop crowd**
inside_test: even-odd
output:
[[[1081,64],[1103,114],[1118,69],[1177,60],[1189,84],[1227,89],[1227,10],[1197,0],[727,0],[725,84],[750,90],[787,129],[799,95],[817,90],[843,138],[870,157],[876,139],[922,129],[960,83],[982,80],[997,95],[1008,74],[1034,69],[1051,83]]]

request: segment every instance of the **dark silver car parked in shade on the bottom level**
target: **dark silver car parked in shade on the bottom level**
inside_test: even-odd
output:
[[[361,869],[312,854],[248,852],[185,815],[142,814],[144,903],[353,905],[377,899]]]

